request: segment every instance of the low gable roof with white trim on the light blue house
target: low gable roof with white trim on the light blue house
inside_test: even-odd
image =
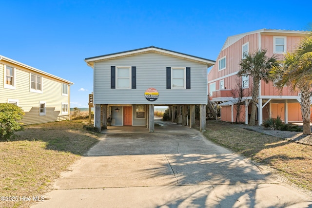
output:
[[[201,58],[201,57],[195,57],[192,55],[183,54],[183,53],[179,53],[176,51],[158,48],[155,46],[139,48],[135,50],[124,51],[124,52],[119,52],[119,53],[114,53],[114,54],[107,54],[107,55],[102,55],[102,56],[97,56],[97,57],[89,57],[89,58],[85,58],[84,61],[87,62],[88,66],[93,67],[94,62],[97,62],[97,61],[105,61],[105,60],[110,60],[110,59],[120,58],[120,57],[129,57],[129,56],[134,56],[137,54],[146,54],[146,53],[151,53],[151,52],[207,64],[208,67],[211,67],[215,64],[214,60]]]

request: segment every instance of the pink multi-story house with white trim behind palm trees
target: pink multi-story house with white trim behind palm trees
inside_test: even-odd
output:
[[[267,49],[268,57],[276,54],[279,59],[283,59],[287,51],[294,51],[303,36],[305,36],[303,31],[261,29],[226,39],[216,64],[208,73],[209,100],[221,106],[222,121],[234,122],[236,114],[234,105],[237,102],[234,90],[237,89],[237,83],[240,83],[245,95],[239,116],[240,121],[248,124],[251,111],[252,77],[237,76],[239,62],[244,55],[262,48]],[[299,102],[298,92],[292,92],[285,87],[280,93],[274,87],[273,82],[266,84],[261,81],[257,105],[258,124],[261,125],[262,121],[269,116],[281,116],[285,123],[302,121]]]

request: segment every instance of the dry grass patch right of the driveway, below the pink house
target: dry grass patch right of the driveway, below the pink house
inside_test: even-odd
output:
[[[312,190],[312,146],[220,121],[207,121],[204,135],[217,144],[277,170],[301,188]]]

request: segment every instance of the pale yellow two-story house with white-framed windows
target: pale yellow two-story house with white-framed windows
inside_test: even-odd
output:
[[[25,125],[68,120],[73,84],[0,55],[0,103],[20,106]]]

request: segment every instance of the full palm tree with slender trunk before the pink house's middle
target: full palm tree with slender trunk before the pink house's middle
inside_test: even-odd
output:
[[[268,72],[272,69],[273,65],[277,63],[276,56],[266,56],[266,49],[259,49],[254,54],[248,54],[239,62],[240,69],[238,76],[251,76],[253,78],[252,86],[252,111],[250,116],[250,126],[255,124],[256,103],[259,96],[260,81],[264,80],[269,82]]]

